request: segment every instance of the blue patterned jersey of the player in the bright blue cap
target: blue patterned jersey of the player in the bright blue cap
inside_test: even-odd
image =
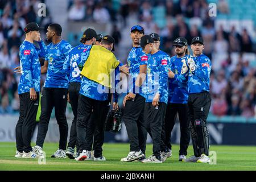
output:
[[[145,93],[142,92],[142,89],[135,89],[135,81],[137,76],[139,75],[139,66],[146,65],[148,60],[148,55],[142,51],[141,47],[133,47],[128,55],[127,63],[129,65],[129,85],[128,92],[129,93],[138,93],[141,96],[145,97]]]

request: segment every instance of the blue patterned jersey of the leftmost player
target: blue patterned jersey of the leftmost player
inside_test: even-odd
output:
[[[21,76],[18,85],[18,94],[30,92],[30,88],[34,88],[36,92],[39,92],[41,67],[38,52],[34,44],[25,40],[20,45],[19,57]]]

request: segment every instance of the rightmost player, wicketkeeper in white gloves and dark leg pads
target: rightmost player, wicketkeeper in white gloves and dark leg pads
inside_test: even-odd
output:
[[[196,36],[192,39],[193,57],[189,57],[188,66],[188,119],[191,125],[191,138],[194,155],[184,159],[184,162],[209,163],[209,133],[207,117],[209,114],[210,71],[212,63],[203,54],[204,40]]]

